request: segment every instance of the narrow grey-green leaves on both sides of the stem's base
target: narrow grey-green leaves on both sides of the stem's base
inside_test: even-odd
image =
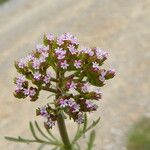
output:
[[[84,124],[83,125],[78,125],[77,132],[75,134],[75,137],[73,141],[71,142],[71,145],[74,146],[73,150],[80,150],[80,146],[78,144],[78,140],[85,135],[85,133],[91,129],[93,129],[98,122],[100,121],[100,118],[98,118],[96,121],[93,121],[92,124],[88,126],[87,122],[87,116],[85,114],[84,116]],[[44,146],[46,145],[52,145],[54,146],[52,150],[64,150],[63,147],[64,145],[51,133],[51,131],[47,128],[45,128],[46,133],[41,129],[41,127],[38,125],[38,123],[35,121],[34,124],[32,122],[29,123],[30,131],[33,136],[33,139],[26,139],[22,137],[14,138],[14,137],[5,137],[5,139],[12,141],[12,142],[18,142],[18,143],[39,143],[40,146],[38,150],[42,150]],[[39,138],[37,136],[38,134],[42,137]],[[94,140],[95,140],[95,131],[92,131],[89,137],[89,141],[87,143],[88,148],[87,150],[92,150],[94,146]]]

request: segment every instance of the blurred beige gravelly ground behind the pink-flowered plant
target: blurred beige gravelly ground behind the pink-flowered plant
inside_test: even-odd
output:
[[[64,32],[83,46],[107,50],[107,63],[117,72],[102,89],[98,112],[90,114],[101,116],[94,150],[149,150],[150,144],[134,149],[136,138],[129,134],[141,118],[150,119],[150,0],[0,0],[0,149],[37,149],[4,139],[30,137],[28,122],[41,121],[35,108],[45,103],[43,97],[37,103],[13,97],[14,61],[34,49],[44,33]],[[67,125],[72,131],[74,123]],[[150,130],[143,134],[150,138]]]

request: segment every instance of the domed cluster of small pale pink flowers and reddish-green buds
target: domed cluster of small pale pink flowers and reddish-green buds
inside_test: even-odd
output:
[[[100,87],[115,76],[114,69],[102,68],[107,58],[108,53],[100,48],[79,48],[78,39],[70,33],[59,37],[47,34],[43,44],[15,63],[20,75],[14,80],[14,95],[36,101],[42,90],[55,93],[53,107],[37,109],[37,115],[46,118],[47,128],[55,125],[60,111],[83,123],[84,113],[97,110],[94,100],[101,99]]]

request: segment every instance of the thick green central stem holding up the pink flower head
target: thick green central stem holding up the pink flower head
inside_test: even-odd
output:
[[[61,82],[62,82],[62,78],[63,76],[60,74],[59,70],[57,70],[56,72],[56,79],[58,79],[59,81],[56,83],[56,87],[57,89],[61,89]],[[61,96],[61,92],[57,92],[56,93],[56,99],[58,99]],[[72,146],[68,137],[68,133],[67,133],[67,129],[66,129],[66,125],[65,125],[65,120],[62,116],[62,114],[58,114],[57,117],[57,124],[58,124],[58,128],[59,128],[59,133],[61,136],[61,139],[64,143],[64,149],[65,150],[72,150]]]

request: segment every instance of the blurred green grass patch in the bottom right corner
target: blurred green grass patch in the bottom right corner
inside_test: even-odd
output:
[[[128,150],[150,150],[150,119],[143,118],[135,124],[127,140]]]

